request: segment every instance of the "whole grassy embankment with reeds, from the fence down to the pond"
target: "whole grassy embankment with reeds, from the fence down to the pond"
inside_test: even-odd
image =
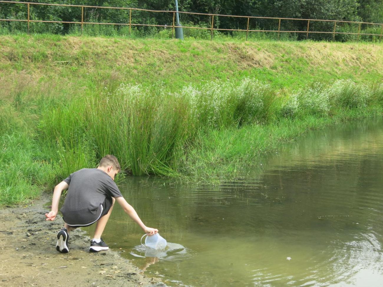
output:
[[[126,173],[216,181],[383,111],[382,44],[18,35],[0,48],[0,205],[106,153]]]

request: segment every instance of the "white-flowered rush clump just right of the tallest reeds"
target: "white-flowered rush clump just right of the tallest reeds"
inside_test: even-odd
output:
[[[180,96],[188,100],[198,128],[267,122],[277,115],[282,99],[265,83],[250,78],[210,82],[201,88],[187,86]]]

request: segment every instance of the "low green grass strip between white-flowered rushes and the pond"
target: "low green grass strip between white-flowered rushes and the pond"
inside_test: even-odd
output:
[[[197,135],[196,143],[183,158],[185,172],[203,181],[219,183],[241,176],[262,157],[277,151],[285,142],[296,140],[308,130],[323,129],[340,122],[381,116],[382,106],[339,110],[335,116],[304,114],[282,118],[267,125],[237,129],[208,130]]]

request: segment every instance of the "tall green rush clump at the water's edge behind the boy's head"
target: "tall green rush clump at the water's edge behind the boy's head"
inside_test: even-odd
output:
[[[85,100],[99,156],[113,153],[134,175],[176,174],[190,130],[188,103],[161,87],[121,84]]]

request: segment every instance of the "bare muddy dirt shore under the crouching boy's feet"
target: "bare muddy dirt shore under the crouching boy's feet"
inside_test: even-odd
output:
[[[0,286],[165,286],[147,278],[117,251],[89,253],[90,238],[70,233],[69,253],[56,251],[61,217],[44,220],[47,195],[28,206],[0,209]]]

